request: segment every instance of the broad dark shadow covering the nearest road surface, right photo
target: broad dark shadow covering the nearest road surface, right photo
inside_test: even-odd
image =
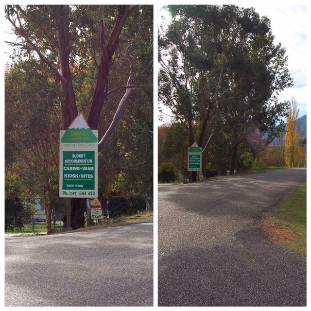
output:
[[[306,306],[306,260],[259,228],[158,261],[158,306]]]

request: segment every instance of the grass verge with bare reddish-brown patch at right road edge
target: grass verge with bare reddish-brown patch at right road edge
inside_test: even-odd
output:
[[[307,183],[291,191],[263,224],[272,241],[307,253]]]

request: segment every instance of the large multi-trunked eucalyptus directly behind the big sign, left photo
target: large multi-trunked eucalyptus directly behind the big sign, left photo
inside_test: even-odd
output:
[[[16,49],[15,61],[32,58],[44,64],[58,86],[62,129],[83,108],[90,127],[100,130],[99,148],[105,146],[138,86],[136,81],[145,69],[149,74],[152,69],[151,63],[142,68],[139,62],[151,51],[150,37],[145,42],[140,36],[153,27],[151,9],[148,5],[5,6],[5,17],[17,36],[8,42]],[[72,199],[71,206],[73,228],[83,226],[85,200]]]

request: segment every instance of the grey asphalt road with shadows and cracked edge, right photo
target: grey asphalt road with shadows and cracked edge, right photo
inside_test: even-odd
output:
[[[306,259],[260,217],[306,169],[158,187],[158,306],[306,306]]]

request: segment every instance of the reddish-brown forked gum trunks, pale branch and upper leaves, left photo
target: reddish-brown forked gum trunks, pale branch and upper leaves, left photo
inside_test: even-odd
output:
[[[145,27],[144,6],[6,5],[5,14],[17,35],[15,42],[9,42],[18,48],[15,56],[36,57],[51,70],[60,85],[63,129],[67,129],[78,114],[75,74],[86,70],[86,67],[93,68],[95,82],[87,122],[92,129],[97,129],[101,111],[107,104],[107,93],[111,91],[111,68],[118,61],[116,55],[120,45],[128,52],[128,63],[135,65],[131,42],[138,38],[140,28]],[[121,44],[122,35],[126,37],[125,24],[131,14],[138,17],[138,31]],[[139,57],[139,53],[135,56]],[[139,74],[135,66],[128,67],[127,82],[125,80],[122,85],[125,93],[100,140],[100,149],[115,130]],[[74,229],[79,228],[84,225],[85,199],[71,199],[71,206],[71,225]]]

